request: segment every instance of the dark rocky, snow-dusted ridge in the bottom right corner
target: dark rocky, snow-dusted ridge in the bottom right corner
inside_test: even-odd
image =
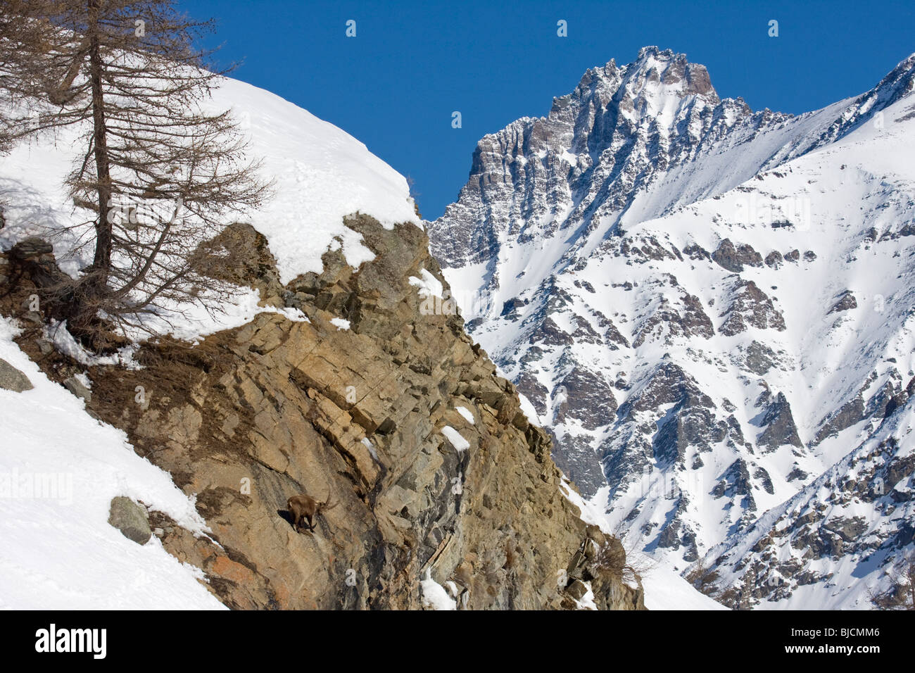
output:
[[[711,587],[738,604],[765,598],[764,609],[834,610],[867,609],[896,585],[915,532],[915,484],[906,474],[915,463],[913,407],[910,399],[816,481],[711,549]],[[820,547],[828,553],[804,555]]]

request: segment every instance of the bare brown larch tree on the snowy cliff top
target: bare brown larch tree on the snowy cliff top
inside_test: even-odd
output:
[[[70,229],[92,261],[43,291],[46,310],[87,342],[191,303],[218,311],[231,290],[202,269],[214,255],[230,265],[238,251],[211,242],[269,185],[210,98],[225,71],[194,42],[211,29],[173,0],[5,0],[0,9],[0,141],[78,138],[67,187],[74,211],[89,214]]]

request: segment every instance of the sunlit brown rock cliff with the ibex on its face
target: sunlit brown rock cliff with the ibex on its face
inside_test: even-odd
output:
[[[417,279],[441,279],[425,233],[347,225],[373,260],[357,270],[328,252],[320,275],[285,286],[264,237],[233,225],[223,235],[251,250],[233,279],[308,320],[262,313],[197,344],[146,343],[140,368],[84,367],[41,341],[28,273],[53,265],[47,253],[9,271],[0,309],[49,377],[85,371],[87,410],[196,495],[211,540],[155,511],[151,524],[230,607],[421,608],[429,570],[461,608],[575,608],[590,589],[598,608],[643,609],[622,547],[562,494],[514,386],[459,315],[421,296]],[[313,533],[285,512],[300,492],[339,503]]]

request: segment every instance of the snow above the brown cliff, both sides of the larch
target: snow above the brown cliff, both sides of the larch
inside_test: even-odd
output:
[[[214,112],[231,109],[250,139],[250,157],[263,160],[262,175],[273,182],[273,198],[238,219],[269,239],[284,283],[307,271],[319,273],[321,255],[330,247],[342,246],[352,266],[371,259],[361,234],[343,223],[346,215],[367,213],[387,228],[419,224],[406,179],[336,126],[271,92],[231,79],[221,81],[208,106]],[[4,248],[26,235],[77,222],[62,188],[78,154],[77,136],[75,128],[57,136],[48,133],[0,158]],[[67,240],[58,244],[55,255],[69,258]],[[87,261],[70,259],[65,270],[73,272]]]

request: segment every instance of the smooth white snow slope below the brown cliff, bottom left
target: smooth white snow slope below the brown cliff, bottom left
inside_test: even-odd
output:
[[[122,430],[89,417],[81,399],[48,380],[0,319],[0,358],[34,389],[0,390],[0,608],[223,609],[203,573],[108,524],[116,495],[206,535],[191,498],[140,458]],[[46,484],[46,486],[41,486]]]

